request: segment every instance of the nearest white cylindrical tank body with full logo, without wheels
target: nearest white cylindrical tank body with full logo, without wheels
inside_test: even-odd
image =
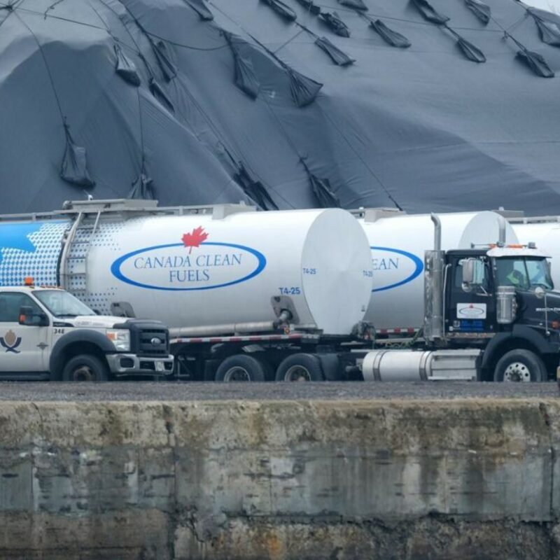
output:
[[[293,311],[291,323],[328,335],[349,335],[363,319],[372,262],[351,214],[218,215],[102,214],[93,235],[93,220],[76,230],[65,287],[104,314],[126,302],[137,317],[172,328],[274,321],[273,297]],[[62,236],[70,226],[67,219],[0,223],[2,283],[20,284],[25,276],[57,283]]]

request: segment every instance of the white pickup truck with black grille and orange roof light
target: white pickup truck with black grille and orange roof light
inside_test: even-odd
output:
[[[99,316],[60,288],[0,286],[0,379],[105,381],[172,374],[159,321]]]

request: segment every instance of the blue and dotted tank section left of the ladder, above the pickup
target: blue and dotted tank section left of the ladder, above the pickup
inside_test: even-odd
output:
[[[0,285],[20,286],[25,276],[55,285],[67,221],[0,224]]]

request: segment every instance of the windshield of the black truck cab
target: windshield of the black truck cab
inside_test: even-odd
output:
[[[498,286],[515,286],[523,290],[537,286],[552,290],[554,286],[544,258],[497,258],[495,262]]]

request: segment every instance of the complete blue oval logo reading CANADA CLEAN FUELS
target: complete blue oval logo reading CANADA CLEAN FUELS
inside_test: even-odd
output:
[[[111,274],[139,288],[185,292],[246,282],[266,264],[265,255],[251,247],[204,241],[190,250],[173,243],[132,251],[113,262]]]

